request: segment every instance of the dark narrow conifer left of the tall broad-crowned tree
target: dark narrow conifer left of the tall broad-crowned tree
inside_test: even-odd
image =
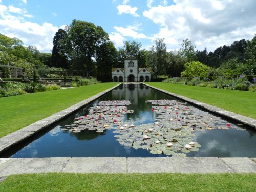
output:
[[[67,57],[68,51],[66,50],[66,38],[67,32],[63,29],[59,29],[55,33],[51,58],[51,66],[53,67],[61,67],[63,69],[67,69],[69,67]]]

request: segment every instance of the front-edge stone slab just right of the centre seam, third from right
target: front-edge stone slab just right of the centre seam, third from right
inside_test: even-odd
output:
[[[127,173],[175,173],[170,157],[129,157]]]

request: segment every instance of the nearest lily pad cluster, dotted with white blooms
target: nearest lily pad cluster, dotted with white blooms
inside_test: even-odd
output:
[[[125,126],[124,126],[125,127]],[[117,129],[117,127],[116,127]],[[152,154],[165,154],[186,157],[185,153],[198,151],[201,145],[192,141],[194,136],[191,129],[170,126],[160,122],[142,124],[139,126],[126,126],[117,129],[117,141],[124,146],[135,149],[142,148]]]

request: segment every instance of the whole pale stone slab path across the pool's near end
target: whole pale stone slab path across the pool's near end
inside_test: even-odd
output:
[[[256,158],[0,158],[0,177],[22,173],[256,173]]]

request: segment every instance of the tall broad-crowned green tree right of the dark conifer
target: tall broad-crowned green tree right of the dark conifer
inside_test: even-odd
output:
[[[72,59],[72,68],[92,73],[96,49],[109,40],[108,34],[100,26],[79,20],[73,20],[66,30],[67,50]]]

